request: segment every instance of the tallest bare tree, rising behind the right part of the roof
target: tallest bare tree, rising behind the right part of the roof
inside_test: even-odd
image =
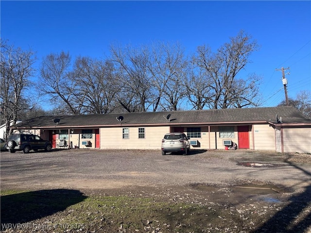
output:
[[[250,63],[250,55],[258,48],[257,42],[243,31],[230,38],[230,43],[221,46],[217,53],[212,53],[207,46],[198,47],[192,61],[200,69],[198,74],[207,80],[209,108],[260,104],[257,88],[260,77],[253,74],[248,79],[238,79],[239,72]]]

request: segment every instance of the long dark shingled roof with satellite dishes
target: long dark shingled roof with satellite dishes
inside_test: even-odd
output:
[[[170,121],[166,116],[170,116]],[[238,123],[266,123],[275,122],[276,114],[282,117],[283,123],[311,124],[311,120],[292,106],[242,108],[242,109],[212,109],[169,112],[142,113],[113,113],[72,116],[39,116],[25,120],[12,126],[15,129],[55,128],[54,118],[59,118],[57,128],[78,127],[115,127],[135,125],[185,125],[185,124],[238,124]],[[122,122],[116,118],[123,116]]]

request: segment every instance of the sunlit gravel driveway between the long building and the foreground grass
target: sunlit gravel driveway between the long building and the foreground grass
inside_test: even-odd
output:
[[[187,156],[163,156],[155,150],[1,152],[1,188],[81,190],[256,181],[296,190],[310,185],[311,164],[286,162],[288,156],[254,150],[192,150]]]

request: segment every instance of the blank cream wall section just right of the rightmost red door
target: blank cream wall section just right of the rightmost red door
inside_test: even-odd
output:
[[[250,136],[251,147],[255,150],[276,150],[275,130],[273,127],[266,125],[253,125],[252,133],[253,138]]]

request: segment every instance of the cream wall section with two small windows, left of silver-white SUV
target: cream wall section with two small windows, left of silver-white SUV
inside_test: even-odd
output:
[[[129,138],[122,138],[122,129],[129,128]],[[145,128],[145,138],[138,138],[138,128]],[[100,149],[161,150],[161,141],[169,126],[101,128]]]

